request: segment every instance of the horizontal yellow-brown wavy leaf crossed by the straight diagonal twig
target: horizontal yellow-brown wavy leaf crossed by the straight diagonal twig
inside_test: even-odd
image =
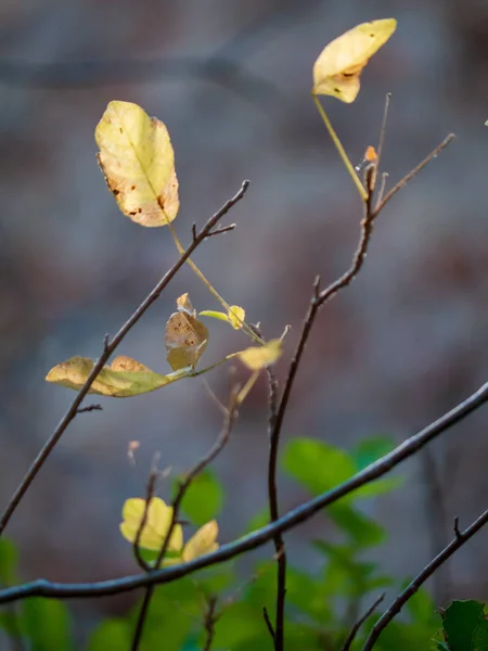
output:
[[[70,357],[51,369],[46,376],[48,382],[79,391],[93,368],[93,360],[86,357]],[[105,366],[97,375],[89,393],[114,398],[127,398],[155,391],[192,374],[192,369],[180,369],[175,373],[159,375],[143,363],[119,356],[111,366]]]

